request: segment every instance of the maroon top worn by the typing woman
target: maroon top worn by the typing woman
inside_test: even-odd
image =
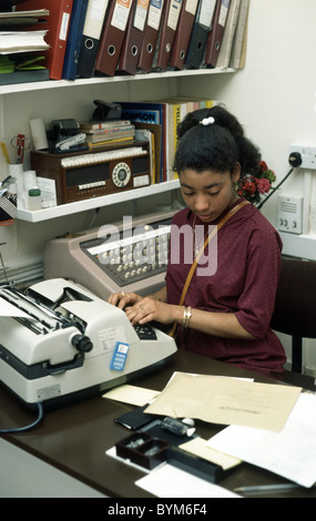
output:
[[[221,217],[211,224],[217,224]],[[190,234],[183,234],[184,239],[179,241],[176,229],[183,225],[190,225],[192,228],[193,219],[194,214],[185,208],[175,214],[172,221],[174,226],[171,231],[170,263],[166,272],[170,304],[180,302],[191,267],[188,248],[193,247],[193,241],[188,241]],[[207,234],[208,224],[196,217],[195,225],[200,225],[200,237],[202,225]],[[200,262],[197,269],[196,269],[193,275],[184,305],[206,311],[234,313],[244,329],[257,339],[221,338],[179,326],[177,345],[180,348],[246,369],[264,374],[282,372],[286,356],[278,337],[269,327],[281,267],[281,237],[261,212],[248,204],[226,222],[218,231],[216,241],[217,265],[214,265],[214,274],[210,274],[210,258],[211,255],[214,257],[216,244],[212,247],[211,243],[210,256],[207,247],[204,256],[207,269],[204,269],[203,274],[203,265]]]

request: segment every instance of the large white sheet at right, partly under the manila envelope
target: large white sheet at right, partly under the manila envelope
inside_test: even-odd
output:
[[[282,432],[231,426],[207,446],[303,487],[316,482],[316,396],[302,394]]]

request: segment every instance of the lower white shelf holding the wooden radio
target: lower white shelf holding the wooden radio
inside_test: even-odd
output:
[[[102,195],[101,197],[78,201],[75,203],[61,204],[51,208],[38,210],[37,212],[20,208],[18,210],[18,218],[21,221],[28,221],[29,223],[40,223],[55,217],[64,217],[65,215],[86,212],[88,210],[124,203],[125,201],[131,201],[131,197],[133,200],[146,197],[149,195],[170,192],[171,190],[176,190],[179,187],[179,180],[174,180],[160,184],[152,184],[142,188],[128,190],[125,192],[116,192],[115,194]]]

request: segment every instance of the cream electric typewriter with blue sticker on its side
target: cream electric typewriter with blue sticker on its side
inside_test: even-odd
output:
[[[163,331],[134,328],[123,310],[63,278],[24,292],[2,285],[1,307],[0,381],[30,407],[103,394],[176,351]]]

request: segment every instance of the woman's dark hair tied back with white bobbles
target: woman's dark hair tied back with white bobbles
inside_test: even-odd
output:
[[[202,120],[210,116],[215,122],[202,125]],[[241,163],[241,176],[259,170],[259,150],[245,136],[238,120],[223,105],[186,114],[177,125],[177,136],[175,172],[191,168],[195,172],[211,170],[233,173],[236,162]]]

